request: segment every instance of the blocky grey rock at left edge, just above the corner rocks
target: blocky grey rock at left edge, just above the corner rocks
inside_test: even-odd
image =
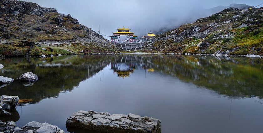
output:
[[[11,115],[8,111],[16,107],[18,100],[18,96],[2,95],[0,97],[0,116]]]

